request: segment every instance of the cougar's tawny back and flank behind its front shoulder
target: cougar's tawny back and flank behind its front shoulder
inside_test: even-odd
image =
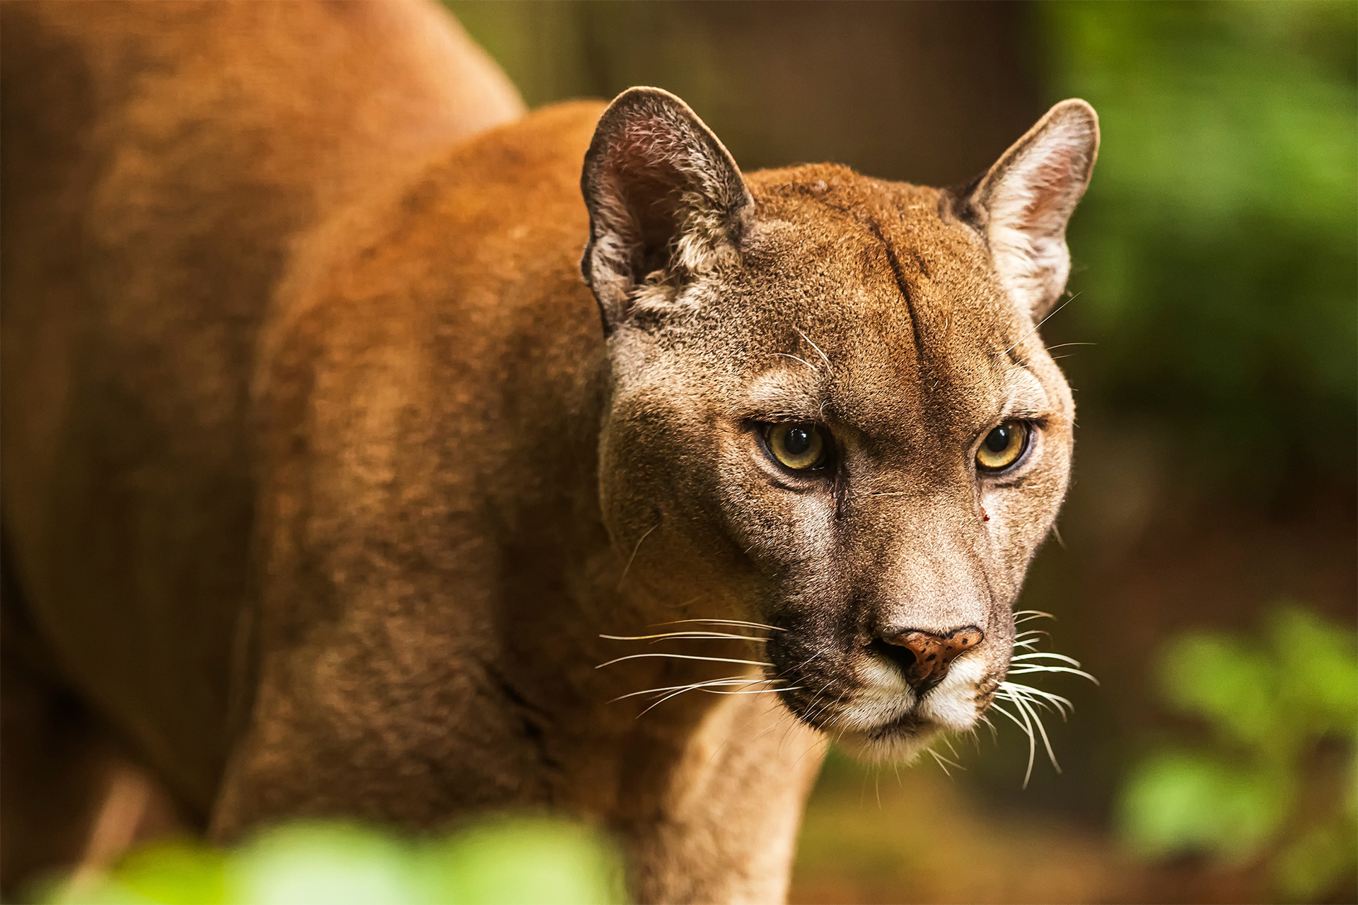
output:
[[[201,813],[247,661],[274,289],[521,102],[432,3],[0,12],[5,569],[62,677]]]

